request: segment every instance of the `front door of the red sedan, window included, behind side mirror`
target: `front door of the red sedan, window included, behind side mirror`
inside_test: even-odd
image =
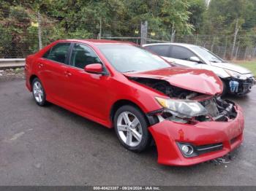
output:
[[[86,65],[102,64],[102,61],[86,44],[74,44],[71,52],[67,82],[68,102],[80,112],[106,120],[106,103],[111,97],[110,77],[108,74],[90,74],[84,70]],[[103,64],[102,66],[104,68]]]

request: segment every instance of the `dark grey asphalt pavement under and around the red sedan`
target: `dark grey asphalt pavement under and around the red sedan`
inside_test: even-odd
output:
[[[37,106],[22,79],[0,82],[0,185],[256,185],[256,87],[232,99],[245,129],[231,160],[172,167],[157,163],[155,147],[129,152],[113,129]]]

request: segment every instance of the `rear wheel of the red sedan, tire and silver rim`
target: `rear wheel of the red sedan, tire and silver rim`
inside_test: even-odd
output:
[[[45,106],[47,104],[45,89],[42,87],[42,82],[38,78],[32,81],[32,93],[37,105]]]

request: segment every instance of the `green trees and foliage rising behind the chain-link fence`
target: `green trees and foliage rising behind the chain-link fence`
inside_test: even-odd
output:
[[[0,1],[1,57],[24,57],[38,50],[38,28],[31,26],[38,12],[43,45],[56,39],[97,38],[100,28],[102,36],[140,36],[135,31],[145,20],[148,36],[155,39],[170,40],[172,31],[176,36],[208,34],[208,42],[227,46],[238,21],[237,41],[242,47],[255,44],[256,0],[211,0],[209,7],[205,0],[10,0]]]

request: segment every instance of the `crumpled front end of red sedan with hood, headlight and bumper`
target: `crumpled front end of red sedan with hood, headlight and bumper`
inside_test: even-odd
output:
[[[194,165],[222,157],[241,144],[244,116],[233,101],[220,98],[219,79],[213,77],[214,83],[206,78],[204,82],[211,86],[208,91],[204,91],[199,79],[194,85],[184,81],[189,88],[178,84],[178,77],[176,83],[169,76],[132,74],[129,79],[159,92],[155,99],[162,109],[146,115],[150,124],[148,130],[157,145],[159,163]]]

